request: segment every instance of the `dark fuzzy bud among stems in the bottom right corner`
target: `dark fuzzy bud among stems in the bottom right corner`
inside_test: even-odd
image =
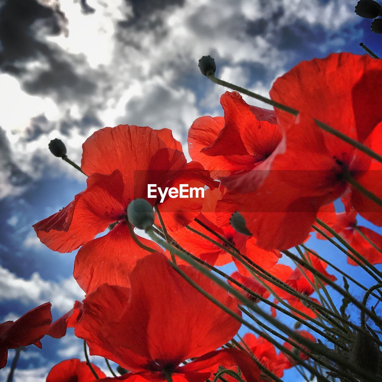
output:
[[[379,346],[366,334],[357,332],[350,354],[350,361],[365,370],[377,372]]]

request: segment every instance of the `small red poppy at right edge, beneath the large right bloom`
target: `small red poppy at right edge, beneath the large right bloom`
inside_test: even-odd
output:
[[[342,199],[342,202],[345,205],[345,211],[337,214],[334,213],[335,219],[331,219],[330,222],[325,223],[341,235],[354,250],[365,257],[371,264],[382,263],[382,253],[377,249],[382,250],[382,236],[370,228],[357,225],[356,216],[358,213],[351,206],[351,194],[346,195]],[[327,235],[332,236],[330,232],[324,231]],[[363,235],[368,240],[366,240]],[[317,238],[324,239],[319,233],[317,233]],[[371,243],[373,243],[374,246]],[[350,259],[350,257],[348,257],[348,263],[358,265]]]

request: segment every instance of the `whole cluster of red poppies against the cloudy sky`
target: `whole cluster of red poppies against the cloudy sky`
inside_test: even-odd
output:
[[[83,144],[81,161],[86,189],[68,206],[34,225],[40,241],[53,251],[79,248],[74,278],[86,298],[83,303],[76,301],[70,312],[51,325],[49,304],[15,323],[2,324],[1,366],[6,364],[7,349],[39,346],[43,335],[60,338],[67,327],[74,327],[90,354],[128,370],[115,377],[118,380],[203,382],[213,379],[223,366],[240,370],[247,382],[265,381],[268,377],[261,365],[281,377],[295,361],[277,353],[267,340],[248,333],[241,349],[223,346],[236,335],[240,322],[176,272],[168,251],[142,237],[138,245],[126,208],[133,199],[146,199],[162,219],[155,221],[158,232],[162,228],[177,248],[206,266],[234,261],[237,271],[229,283],[253,302],[268,299],[272,291],[278,296],[275,306],[285,300],[299,317],[316,317],[307,301],[267,278],[254,278],[229,249],[235,247],[251,264],[312,304],[319,304],[310,297],[315,291],[312,273],[278,261],[281,251],[307,240],[316,218],[369,262],[382,262],[378,250],[382,237],[356,223],[359,214],[382,225],[382,207],[357,187],[382,198],[382,164],[320,129],[315,121],[382,154],[382,92],[376,83],[380,73],[382,60],[350,53],[299,63],[278,78],[270,91],[272,100],[298,110],[297,117],[277,108],[248,105],[237,92],[225,92],[220,100],[224,117],[198,118],[189,129],[193,159],[189,163],[168,129],[118,125],[92,134]],[[161,203],[147,195],[150,184],[164,189],[185,183],[206,188],[204,198],[167,196]],[[346,208],[338,214],[333,201],[339,197]],[[230,224],[236,211],[244,220]],[[107,234],[95,238],[109,226]],[[335,280],[316,254],[304,255],[320,274]],[[177,267],[241,316],[238,301],[227,291],[180,259]],[[275,316],[275,307],[272,312]],[[308,332],[300,333],[315,341]],[[285,346],[292,348],[290,343]],[[72,359],[53,367],[47,381],[74,377],[81,382],[95,380],[86,363]],[[231,380],[228,375],[225,378]]]

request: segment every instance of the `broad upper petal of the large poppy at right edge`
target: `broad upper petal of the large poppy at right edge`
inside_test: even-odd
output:
[[[333,53],[296,65],[275,81],[270,96],[363,142],[382,120],[382,95],[375,81],[381,70],[382,63],[368,55]],[[288,128],[293,116],[279,109],[275,113]]]

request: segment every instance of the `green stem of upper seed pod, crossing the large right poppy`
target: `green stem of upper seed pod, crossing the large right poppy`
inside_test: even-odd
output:
[[[238,92],[241,92],[243,94],[246,94],[246,95],[249,95],[249,97],[252,97],[254,99],[257,99],[257,100],[260,100],[262,102],[265,102],[266,104],[268,105],[271,105],[273,107],[276,107],[280,110],[283,110],[289,114],[292,114],[294,116],[297,116],[298,115],[298,110],[296,109],[293,109],[289,106],[286,106],[286,105],[283,105],[283,104],[280,104],[279,102],[275,102],[274,100],[271,100],[269,98],[266,98],[266,97],[263,97],[262,95],[259,95],[259,94],[256,94],[254,92],[251,92],[247,89],[244,89],[243,87],[240,87],[240,86],[237,86],[237,85],[234,85],[234,84],[231,84],[227,81],[223,81],[222,79],[219,79],[219,78],[216,78],[214,74],[209,74],[207,76],[207,78],[212,81],[213,83],[215,84],[218,84],[218,85],[222,85],[224,87],[228,87],[229,89],[232,89],[232,90],[236,90]],[[373,158],[373,159],[376,159],[378,162],[382,163],[382,156],[377,154],[376,152],[372,151],[371,149],[369,149],[369,147],[367,146],[364,146],[362,143],[359,143],[358,141],[355,141],[354,139],[348,137],[347,135],[341,133],[340,131],[336,130],[336,129],[333,129],[332,127],[326,125],[325,123],[319,121],[319,120],[314,120],[314,122],[316,123],[316,125],[327,131],[328,133],[336,136],[337,138],[340,138],[342,141],[350,144],[351,146],[355,147],[356,149],[364,152],[365,154],[369,155],[369,157]]]

